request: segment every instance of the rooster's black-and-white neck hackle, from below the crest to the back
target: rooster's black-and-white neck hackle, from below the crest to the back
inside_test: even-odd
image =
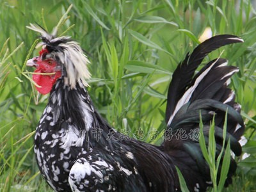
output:
[[[109,132],[117,134],[94,109],[86,88],[77,83],[76,88],[71,89],[65,85],[63,78],[54,84],[45,113],[51,113],[52,122],[49,125],[52,129],[65,129],[70,137],[85,141],[88,146],[106,147],[110,144],[107,140]]]

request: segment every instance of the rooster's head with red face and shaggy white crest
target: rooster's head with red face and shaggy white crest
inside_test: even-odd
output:
[[[69,36],[56,37],[55,33],[47,33],[40,26],[31,24],[28,28],[40,33],[42,40],[39,56],[27,62],[27,66],[36,68],[33,81],[38,84],[38,92],[51,92],[52,86],[60,77],[70,89],[76,88],[77,83],[88,86],[86,79],[90,78],[90,72],[86,65],[89,61],[77,42]]]

